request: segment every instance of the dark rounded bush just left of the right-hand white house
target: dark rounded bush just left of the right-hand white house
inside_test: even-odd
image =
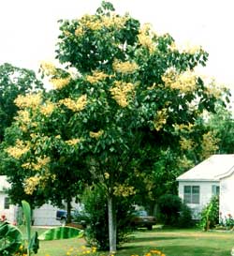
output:
[[[193,225],[190,208],[177,195],[165,194],[158,200],[158,220],[165,225],[187,228]]]

